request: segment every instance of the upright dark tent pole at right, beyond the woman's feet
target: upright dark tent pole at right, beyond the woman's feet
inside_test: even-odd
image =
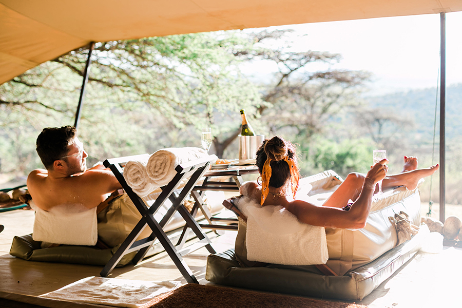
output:
[[[445,161],[446,161],[446,140],[445,140],[445,119],[446,119],[446,13],[440,13],[441,24],[441,69],[440,69],[440,111],[439,111],[439,220],[445,221]]]

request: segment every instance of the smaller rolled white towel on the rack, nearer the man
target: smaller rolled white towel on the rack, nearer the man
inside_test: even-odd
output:
[[[144,160],[129,161],[124,168],[124,179],[128,186],[140,197],[145,197],[151,191],[159,187],[147,175],[146,164],[148,157]]]

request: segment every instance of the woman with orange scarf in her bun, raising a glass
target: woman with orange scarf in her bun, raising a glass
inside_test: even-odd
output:
[[[257,166],[262,177],[261,187],[255,182],[245,183],[240,193],[265,205],[281,205],[301,222],[331,228],[363,228],[372,204],[377,182],[383,180],[382,189],[406,186],[412,190],[421,178],[432,175],[436,164],[417,169],[417,159],[405,157],[403,172],[387,176],[387,159],[371,167],[367,175],[352,173],[322,206],[295,199],[299,173],[295,146],[280,137],[265,139],[257,150]],[[351,206],[347,206],[353,200]],[[347,210],[343,208],[348,208]]]

